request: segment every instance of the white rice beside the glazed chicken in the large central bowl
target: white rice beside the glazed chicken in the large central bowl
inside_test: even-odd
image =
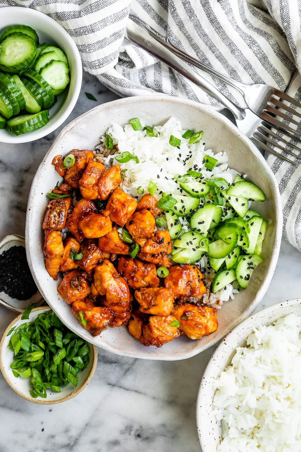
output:
[[[120,165],[122,170],[127,170],[124,174],[124,181],[121,184],[122,189],[130,193],[135,198],[140,198],[137,188],[144,189],[144,193],[148,193],[148,185],[151,180],[157,186],[156,197],[160,198],[162,192],[179,193],[177,181],[174,179],[176,174],[183,175],[189,169],[199,171],[202,175],[209,179],[211,177],[222,177],[227,180],[229,184],[233,182],[237,171],[228,168],[228,157],[226,152],[218,152],[214,154],[211,149],[205,149],[205,142],[201,140],[199,143],[189,144],[189,139],[182,138],[185,129],[182,128],[181,122],[171,117],[163,126],[154,126],[153,131],[157,133],[157,137],[149,137],[143,127],[135,131],[130,124],[121,127],[119,124],[113,122],[109,127],[107,134],[113,139],[115,149],[109,151],[104,148],[105,136],[101,138],[102,144],[97,146],[99,154],[97,160],[102,161],[105,165]],[[181,139],[180,149],[171,146],[169,143],[170,137],[173,135]],[[206,136],[206,131],[204,133]],[[128,151],[132,155],[138,157],[139,163],[135,160],[130,160],[126,163],[121,163],[115,160],[116,155]],[[203,157],[207,154],[214,156],[218,160],[218,164],[212,171],[205,168],[203,165]],[[188,179],[189,180],[189,179]],[[201,202],[203,202],[201,200]],[[185,218],[181,218],[183,223],[182,231],[189,231],[190,225]],[[166,227],[166,226],[165,226]],[[204,256],[199,261],[200,268],[208,267],[208,261]],[[205,274],[207,282],[212,279],[212,273]],[[205,303],[220,307],[223,301],[234,298],[234,290],[232,284],[228,284],[219,292],[212,294],[208,291],[205,294],[203,301]],[[218,302],[218,303],[217,303]],[[217,303],[217,304],[216,304]]]

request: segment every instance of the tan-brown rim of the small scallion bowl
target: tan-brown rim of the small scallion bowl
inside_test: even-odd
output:
[[[51,307],[50,306],[39,306],[39,307],[33,308],[31,312],[45,311],[45,310],[49,311],[49,310],[51,310]],[[22,314],[18,315],[18,317],[16,317],[12,322],[10,322],[10,324],[5,329],[5,331],[4,331],[3,335],[2,335],[2,338],[0,340],[0,371],[1,371],[2,375],[3,375],[3,378],[5,379],[6,383],[20,397],[22,397],[25,400],[28,400],[29,402],[37,403],[39,405],[54,405],[54,404],[57,404],[57,403],[65,402],[66,400],[73,399],[76,395],[78,395],[80,392],[82,392],[83,389],[85,389],[85,387],[88,385],[88,383],[90,382],[91,378],[94,375],[94,372],[95,372],[96,366],[97,366],[97,347],[95,345],[91,344],[92,345],[92,350],[93,350],[93,364],[92,364],[91,370],[89,372],[88,377],[83,382],[82,386],[77,388],[75,391],[71,392],[71,394],[66,395],[65,397],[62,397],[61,399],[58,399],[58,400],[44,400],[44,399],[39,400],[39,399],[34,399],[33,397],[28,397],[28,395],[24,395],[21,391],[19,391],[18,388],[14,387],[11,384],[11,381],[10,381],[9,377],[7,376],[7,374],[6,374],[5,368],[4,368],[3,363],[2,363],[2,353],[1,353],[2,352],[2,348],[3,348],[3,343],[4,343],[4,340],[6,338],[7,333],[14,326],[14,324],[17,323],[18,320],[21,319],[21,317],[22,317]]]

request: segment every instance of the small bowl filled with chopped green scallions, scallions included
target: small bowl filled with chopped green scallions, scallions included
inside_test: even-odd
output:
[[[97,348],[72,333],[49,306],[29,306],[0,341],[0,370],[23,399],[43,405],[72,399],[88,385]]]

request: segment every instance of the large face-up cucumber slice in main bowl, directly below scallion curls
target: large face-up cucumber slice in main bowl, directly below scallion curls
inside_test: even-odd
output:
[[[207,236],[208,229],[218,225],[222,218],[222,207],[215,204],[201,206],[191,217],[190,226],[193,231]]]

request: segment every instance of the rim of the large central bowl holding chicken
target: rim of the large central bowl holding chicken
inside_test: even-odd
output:
[[[37,172],[32,180],[32,186],[31,186],[29,198],[28,198],[26,224],[25,224],[26,254],[27,254],[29,268],[31,269],[32,276],[37,284],[37,287],[40,290],[40,292],[42,293],[42,295],[44,296],[44,298],[46,299],[47,303],[49,303],[49,305],[51,306],[52,301],[47,298],[47,293],[43,293],[42,288],[40,287],[38,278],[36,277],[35,266],[33,264],[33,258],[32,258],[32,250],[29,246],[30,245],[30,238],[29,238],[30,237],[30,224],[31,224],[33,205],[34,205],[33,198],[34,198],[34,193],[35,193],[35,185],[36,185],[37,180],[40,177],[40,172],[44,166],[44,162],[47,159],[48,155],[51,154],[52,149],[59,144],[60,140],[65,136],[65,134],[67,132],[69,132],[70,130],[72,130],[74,127],[77,127],[80,124],[80,122],[85,120],[87,117],[93,115],[96,112],[100,112],[100,111],[105,110],[110,107],[118,108],[119,106],[121,106],[123,104],[135,104],[135,103],[139,103],[140,101],[154,101],[154,102],[164,102],[164,101],[170,102],[170,101],[172,101],[175,104],[188,105],[193,108],[198,108],[201,111],[204,111],[205,113],[209,113],[210,115],[212,115],[213,120],[218,120],[219,122],[221,122],[224,125],[231,128],[232,131],[238,135],[238,137],[245,144],[245,146],[247,148],[249,148],[250,152],[252,152],[255,155],[255,157],[259,160],[259,162],[264,166],[265,172],[267,173],[267,176],[269,177],[269,180],[271,182],[271,190],[273,193],[273,200],[275,203],[275,211],[276,211],[275,212],[275,228],[276,229],[275,229],[275,239],[274,239],[274,243],[273,243],[273,251],[271,254],[271,258],[270,258],[269,269],[267,271],[267,274],[265,275],[265,278],[264,278],[261,286],[259,287],[259,290],[256,292],[256,296],[255,296],[254,300],[252,301],[250,306],[248,306],[248,308],[243,312],[243,315],[241,315],[240,319],[233,320],[231,322],[231,324],[228,326],[226,331],[223,331],[220,334],[218,334],[214,339],[212,339],[212,341],[208,342],[208,344],[206,344],[204,346],[200,346],[201,349],[194,349],[190,353],[185,353],[185,355],[179,353],[177,355],[161,356],[161,355],[153,355],[153,354],[149,353],[149,354],[144,354],[143,356],[140,356],[139,353],[128,353],[124,350],[116,349],[116,347],[113,347],[108,344],[96,344],[95,342],[93,342],[94,338],[86,337],[85,330],[83,330],[82,334],[80,334],[79,331],[76,331],[76,334],[78,334],[80,337],[87,340],[88,342],[91,342],[92,344],[96,344],[98,347],[103,348],[104,350],[107,350],[111,353],[115,353],[115,354],[118,354],[121,356],[128,356],[130,358],[154,359],[154,360],[162,360],[162,361],[177,361],[177,360],[181,360],[181,359],[191,358],[192,356],[195,356],[198,353],[201,353],[202,351],[206,350],[207,348],[211,347],[212,345],[217,344],[226,334],[229,333],[229,331],[231,331],[236,325],[238,325],[241,321],[245,320],[250,314],[252,314],[253,311],[255,311],[256,307],[259,305],[260,301],[264,297],[264,294],[267,291],[267,289],[269,287],[269,283],[271,282],[271,279],[273,277],[273,273],[275,271],[276,264],[278,261],[278,255],[279,255],[280,244],[281,244],[282,206],[281,206],[280,192],[279,192],[279,188],[278,188],[275,176],[274,176],[272,170],[270,169],[270,167],[268,166],[264,157],[260,154],[257,147],[254,145],[254,143],[252,143],[252,141],[250,141],[250,139],[248,137],[246,137],[245,134],[243,134],[236,127],[235,124],[233,124],[228,118],[223,116],[221,113],[217,112],[213,107],[205,105],[205,104],[200,104],[199,102],[195,102],[193,100],[183,99],[183,98],[173,97],[173,96],[167,96],[164,94],[147,95],[147,96],[132,96],[132,97],[126,97],[126,98],[122,98],[122,99],[116,99],[111,102],[107,102],[105,104],[98,105],[97,107],[94,107],[91,110],[88,110],[88,112],[83,113],[78,118],[75,118],[73,121],[69,122],[69,124],[67,126],[65,126],[62,129],[62,131],[59,133],[59,135],[56,137],[55,141],[53,141],[49,151],[46,153],[41,164],[37,168]],[[53,304],[52,309],[53,309],[53,311],[56,312],[58,317],[60,317],[60,315],[57,312],[57,308],[56,308],[55,304]],[[68,328],[71,331],[73,331],[72,327],[68,326]]]

